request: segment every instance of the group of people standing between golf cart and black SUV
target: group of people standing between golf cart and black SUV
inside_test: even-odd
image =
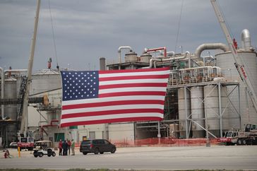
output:
[[[60,139],[58,148],[59,155],[75,155],[75,142],[73,139],[71,141],[64,140],[64,142]]]

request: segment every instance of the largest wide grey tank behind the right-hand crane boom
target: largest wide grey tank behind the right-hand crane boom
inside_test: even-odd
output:
[[[251,84],[257,93],[257,64],[256,64],[256,52],[241,52],[238,51],[239,57],[241,59],[242,64],[244,64],[244,68],[246,73],[248,74],[248,78],[251,81]],[[232,81],[238,81],[240,83],[240,107],[241,107],[241,129],[244,129],[244,124],[249,122],[256,123],[257,115],[256,110],[254,109],[251,99],[249,95],[246,95],[246,86],[242,83],[241,78],[239,77],[239,73],[237,72],[236,67],[234,66],[234,58],[232,57],[231,52],[225,52],[221,54],[215,55],[217,59],[217,66],[222,68],[222,72],[225,75],[225,78]],[[239,95],[238,89],[234,90],[234,86],[227,86],[228,92],[233,90],[232,95],[229,95],[229,99],[232,101],[236,110],[239,111]],[[246,100],[247,96],[247,100]],[[249,103],[249,109],[247,109],[247,103]],[[229,103],[229,117],[234,117],[234,119],[229,119],[229,128],[232,129],[240,129],[239,118],[236,110],[231,103]]]

